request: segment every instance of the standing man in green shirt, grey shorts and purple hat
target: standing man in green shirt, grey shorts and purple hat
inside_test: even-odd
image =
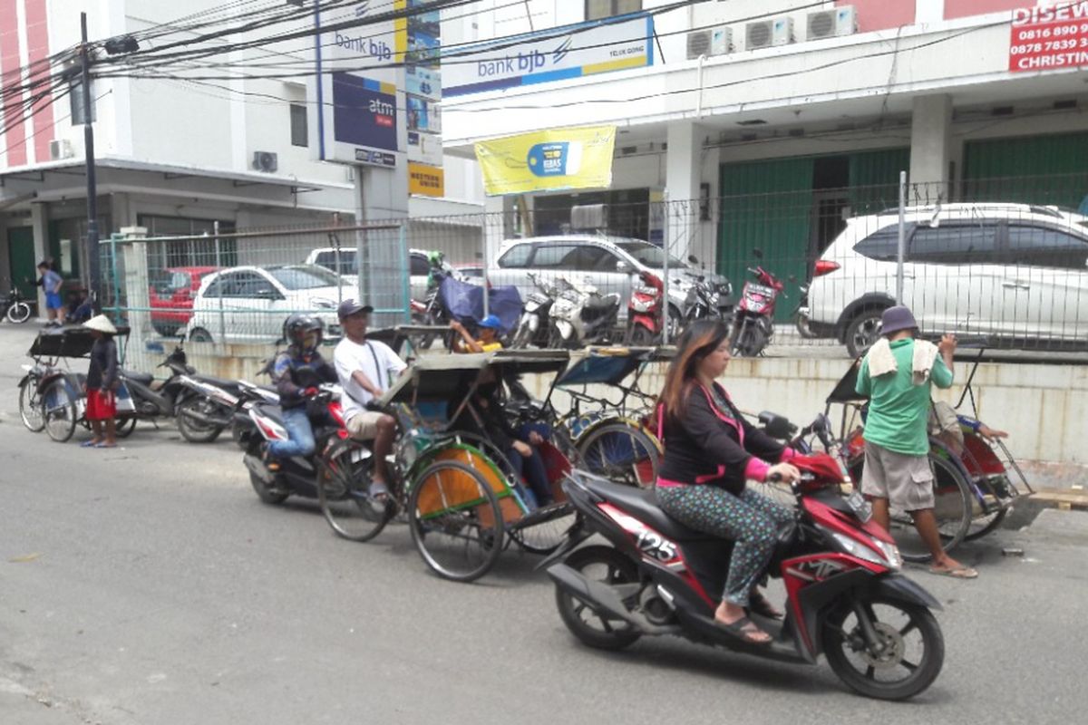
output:
[[[934,385],[952,387],[955,336],[944,335],[939,346],[916,340],[918,324],[905,307],[885,310],[882,324],[883,337],[866,353],[857,374],[857,392],[869,397],[862,493],[886,530],[890,505],[911,514],[932,554],[931,573],[973,579],[978,572],[941,547],[928,459],[930,391]]]

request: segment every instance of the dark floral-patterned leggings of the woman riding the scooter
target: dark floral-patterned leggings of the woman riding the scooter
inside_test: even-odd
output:
[[[791,521],[793,512],[751,488],[735,496],[717,486],[660,486],[657,501],[684,526],[735,542],[722,598],[747,607],[749,593],[775,550],[778,526]]]

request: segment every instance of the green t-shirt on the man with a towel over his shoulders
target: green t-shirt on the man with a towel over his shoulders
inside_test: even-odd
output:
[[[869,414],[865,420],[865,440],[906,455],[929,453],[929,399],[931,385],[952,387],[952,371],[937,357],[929,380],[914,385],[911,366],[914,362],[914,340],[891,343],[898,370],[879,377],[869,377],[869,357],[865,355],[857,373],[856,390],[869,397]]]

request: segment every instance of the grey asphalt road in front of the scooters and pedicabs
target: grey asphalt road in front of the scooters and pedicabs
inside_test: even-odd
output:
[[[1068,723],[1088,709],[1086,514],[1021,512],[1026,528],[963,547],[975,582],[913,570],[944,603],[944,670],[912,702],[877,702],[823,662],[586,649],[534,558],[442,582],[404,526],[357,545],[307,502],[261,504],[225,440],[139,427],[106,451],[30,434],[14,385],[32,337],[0,325],[4,725]]]

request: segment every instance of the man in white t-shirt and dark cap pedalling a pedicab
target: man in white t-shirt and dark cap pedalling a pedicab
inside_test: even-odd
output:
[[[369,495],[380,502],[388,496],[390,474],[385,457],[393,448],[397,433],[392,415],[372,411],[367,405],[390,388],[407,365],[390,346],[367,339],[370,313],[374,309],[355,300],[341,302],[337,313],[344,328],[344,339],[333,351],[336,375],[344,388],[341,403],[344,422],[356,440],[374,441],[374,473]]]

